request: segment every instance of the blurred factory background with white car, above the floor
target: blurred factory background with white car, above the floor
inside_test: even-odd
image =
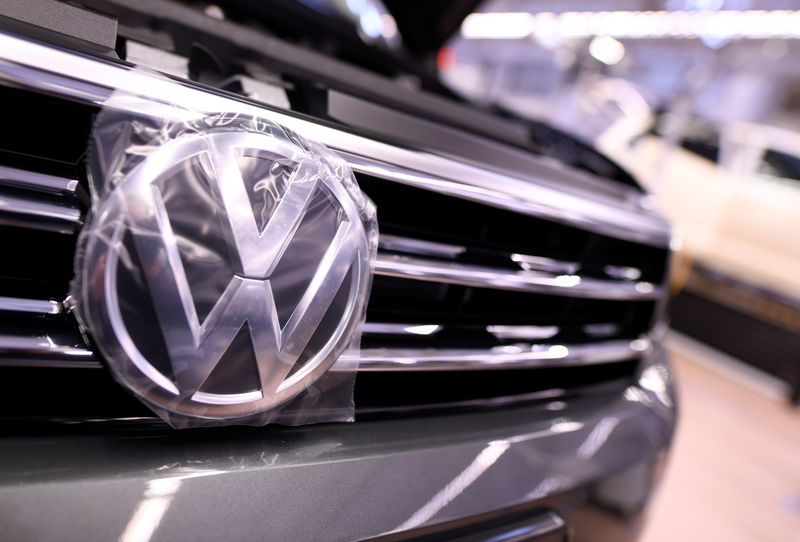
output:
[[[490,0],[438,54],[486,107],[594,145],[675,227],[673,327],[800,400],[800,3]],[[544,128],[543,128],[544,129]],[[569,162],[569,141],[552,153]]]

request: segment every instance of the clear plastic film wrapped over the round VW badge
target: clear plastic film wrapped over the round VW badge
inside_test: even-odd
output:
[[[123,386],[173,427],[352,421],[377,221],[341,158],[114,96],[89,178],[73,298]]]

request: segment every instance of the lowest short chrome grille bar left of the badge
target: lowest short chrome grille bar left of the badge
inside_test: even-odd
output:
[[[0,335],[0,366],[100,367],[91,350],[57,344],[48,337]]]

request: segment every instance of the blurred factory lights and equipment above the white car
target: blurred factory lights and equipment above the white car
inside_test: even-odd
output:
[[[800,118],[800,9],[787,0],[491,0],[440,55],[470,99],[584,138],[690,107],[725,124]],[[690,102],[689,104],[684,102]]]

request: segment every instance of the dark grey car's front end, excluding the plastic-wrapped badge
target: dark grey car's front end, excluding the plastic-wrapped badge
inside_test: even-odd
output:
[[[661,346],[670,231],[629,176],[541,157],[541,127],[241,18],[80,4],[107,32],[53,33],[24,14],[0,30],[0,91],[15,105],[0,227],[17,255],[0,264],[4,537],[636,537],[676,407]],[[161,49],[186,71],[156,73]],[[134,50],[153,65],[132,66]],[[380,229],[355,423],[175,431],[111,379],[67,296],[91,219],[86,142],[104,108],[133,109],[120,95],[258,115],[355,172]]]

